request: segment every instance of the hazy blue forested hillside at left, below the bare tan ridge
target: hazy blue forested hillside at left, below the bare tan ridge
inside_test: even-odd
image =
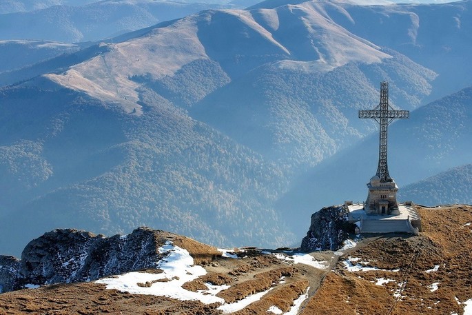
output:
[[[139,225],[215,245],[294,242],[271,207],[280,167],[150,90],[143,114],[63,88],[3,90],[0,247],[55,227]]]

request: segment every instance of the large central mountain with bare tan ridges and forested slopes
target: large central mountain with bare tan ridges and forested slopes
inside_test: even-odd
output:
[[[376,130],[356,116],[378,101],[378,82],[389,81],[393,107],[413,110],[437,77],[323,10],[311,2],[207,10],[55,59],[57,68],[25,70],[25,81],[2,89],[1,122],[11,127],[3,183],[12,196],[24,192],[2,197],[2,219],[12,223],[3,231],[52,216],[57,226],[74,217],[105,234],[139,223],[220,245],[290,243],[293,232],[277,231],[301,230],[303,199],[280,200],[298,176]],[[18,130],[11,122],[28,111],[41,120],[27,113]],[[23,158],[34,167],[20,174]],[[241,218],[257,232],[234,224]],[[57,227],[44,224],[36,233]]]

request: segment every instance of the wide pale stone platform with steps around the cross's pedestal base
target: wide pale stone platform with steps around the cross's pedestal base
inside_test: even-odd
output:
[[[421,232],[421,219],[413,203],[400,203],[400,214],[367,214],[364,203],[346,202],[349,222],[356,223],[360,233],[395,233],[405,232],[418,235]]]

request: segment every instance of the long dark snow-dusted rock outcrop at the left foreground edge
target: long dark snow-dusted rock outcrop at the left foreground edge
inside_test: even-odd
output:
[[[112,237],[79,230],[54,230],[28,243],[21,261],[0,256],[0,287],[3,287],[2,292],[9,292],[27,284],[93,281],[103,276],[155,268],[163,258],[159,248],[167,241],[187,249],[191,255],[192,250],[198,248],[196,259],[199,261],[210,261],[220,255],[209,245],[147,227]]]

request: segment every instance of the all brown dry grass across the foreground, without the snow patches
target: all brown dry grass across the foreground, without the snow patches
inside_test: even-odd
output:
[[[204,283],[230,285],[218,294],[228,303],[249,294],[271,291],[260,301],[235,314],[271,314],[275,305],[287,312],[293,301],[310,287],[311,296],[300,314],[462,314],[464,302],[472,298],[472,207],[419,208],[424,232],[420,236],[385,235],[365,238],[344,256],[329,252],[314,254],[332,260],[333,270],[307,265],[289,265],[257,250],[240,253],[240,259],[221,258],[212,247],[188,238],[172,236],[205,266],[207,274],[185,283],[185,288],[205,289]],[[167,236],[166,236],[167,237]],[[343,261],[380,270],[351,272]],[[437,271],[426,272],[439,265]],[[389,270],[399,269],[398,272]],[[387,271],[386,271],[387,270]],[[284,276],[285,281],[280,282]],[[379,278],[388,283],[376,285]],[[439,283],[431,292],[430,285]],[[147,284],[143,284],[147,285]],[[151,283],[149,284],[151,285]],[[456,300],[457,298],[457,300]],[[176,301],[104,289],[103,285],[80,283],[50,285],[0,295],[0,314],[220,314],[218,304]]]

